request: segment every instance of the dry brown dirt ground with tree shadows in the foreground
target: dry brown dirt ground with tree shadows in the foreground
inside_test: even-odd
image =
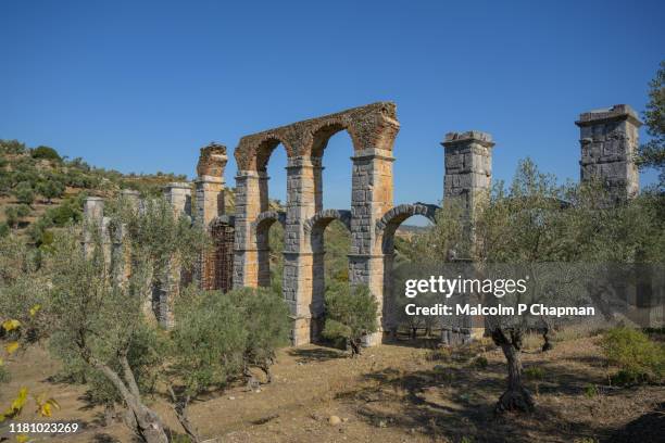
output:
[[[409,343],[365,350],[350,359],[341,351],[308,345],[281,350],[274,382],[211,394],[190,417],[216,442],[662,442],[665,387],[612,388],[598,338],[560,342],[549,353],[523,354],[538,408],[532,415],[494,417],[505,366],[491,345],[452,355]],[[475,365],[482,355],[487,366]],[[133,442],[122,422],[103,423],[103,410],[86,402],[85,389],[49,382],[57,365],[42,349],[10,363],[13,380],[1,385],[0,405],[26,385],[55,397],[51,421],[77,421],[73,435],[37,435],[48,442]],[[152,406],[180,432],[162,398]],[[340,422],[330,423],[337,416]],[[27,410],[20,421],[45,421]],[[0,431],[7,435],[7,429]],[[1,441],[0,436],[0,441]]]

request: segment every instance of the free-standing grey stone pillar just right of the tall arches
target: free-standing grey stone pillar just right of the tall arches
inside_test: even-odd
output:
[[[460,198],[470,217],[478,200],[489,195],[492,181],[492,136],[470,130],[449,132],[443,199]]]

